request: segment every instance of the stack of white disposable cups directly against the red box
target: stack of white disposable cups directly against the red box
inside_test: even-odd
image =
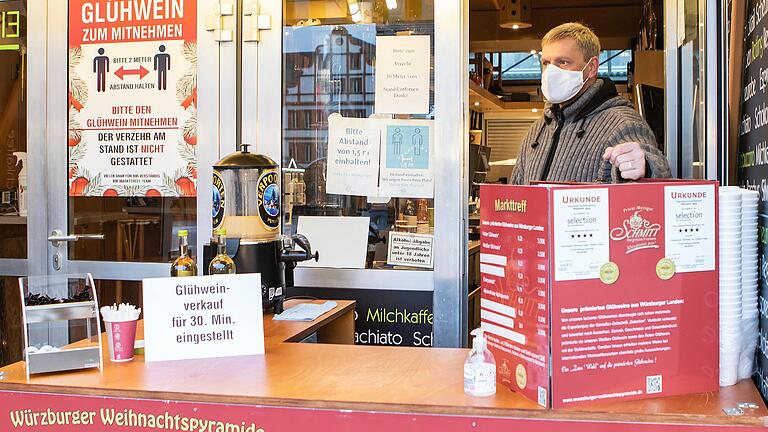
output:
[[[720,188],[720,385],[738,380],[742,348],[741,193]]]

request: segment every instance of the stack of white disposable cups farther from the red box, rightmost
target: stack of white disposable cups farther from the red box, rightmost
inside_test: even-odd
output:
[[[759,193],[741,190],[741,329],[739,379],[752,376],[758,336],[757,206]]]

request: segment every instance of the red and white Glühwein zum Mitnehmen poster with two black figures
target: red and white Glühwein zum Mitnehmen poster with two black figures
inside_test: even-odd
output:
[[[196,196],[196,0],[69,1],[68,145],[70,196]]]

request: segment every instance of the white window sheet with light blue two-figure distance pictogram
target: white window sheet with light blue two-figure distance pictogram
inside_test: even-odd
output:
[[[383,123],[379,196],[434,197],[432,121],[387,120]]]

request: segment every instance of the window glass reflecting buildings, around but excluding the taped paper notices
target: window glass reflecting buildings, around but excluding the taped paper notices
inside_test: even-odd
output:
[[[383,268],[388,232],[411,220],[415,228],[419,216],[426,219],[431,199],[371,203],[363,196],[328,194],[325,175],[328,116],[374,114],[376,37],[430,35],[434,53],[433,10],[430,0],[284,1],[284,233],[295,232],[303,215],[370,217],[366,266]]]

